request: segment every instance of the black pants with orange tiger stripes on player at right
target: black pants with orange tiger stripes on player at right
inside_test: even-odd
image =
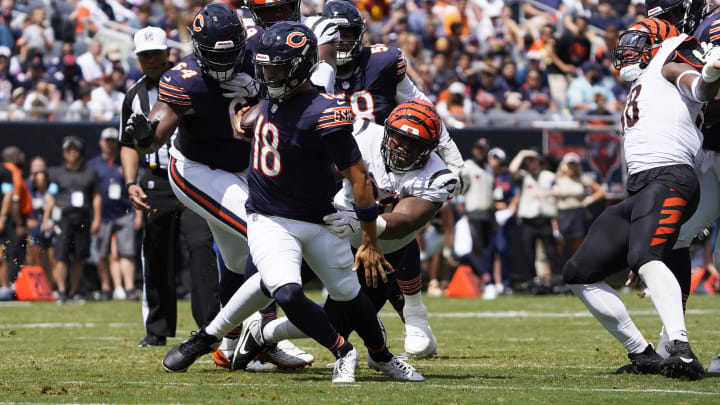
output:
[[[680,227],[700,199],[695,170],[688,165],[645,170],[631,176],[627,188],[630,197],[600,214],[565,264],[566,283],[597,283],[628,267],[637,271],[652,260],[672,263]],[[690,267],[685,269],[689,272]],[[681,285],[687,284],[683,280],[689,280],[688,274],[674,274]]]

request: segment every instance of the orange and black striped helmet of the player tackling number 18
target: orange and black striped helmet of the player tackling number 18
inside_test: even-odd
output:
[[[425,100],[412,99],[395,107],[385,120],[380,147],[385,165],[399,172],[423,168],[440,142],[440,126],[440,116]]]

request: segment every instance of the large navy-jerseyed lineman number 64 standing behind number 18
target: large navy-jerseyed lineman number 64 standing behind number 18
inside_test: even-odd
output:
[[[150,153],[179,129],[170,151],[170,183],[178,199],[208,221],[231,271],[223,272],[220,283],[225,305],[242,283],[248,254],[250,144],[232,120],[257,98],[252,57],[244,64],[244,55],[246,45],[254,53],[261,29],[246,33],[232,10],[212,3],[195,16],[190,32],[193,54],[162,76],[149,117],[133,114],[127,132],[140,152]]]

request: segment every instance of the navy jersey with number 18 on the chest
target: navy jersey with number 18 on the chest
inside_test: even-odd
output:
[[[316,89],[286,102],[260,103],[248,174],[248,213],[323,223],[323,216],[335,212],[333,163],[342,170],[361,159],[350,107]],[[344,163],[333,157],[339,154],[347,157]]]

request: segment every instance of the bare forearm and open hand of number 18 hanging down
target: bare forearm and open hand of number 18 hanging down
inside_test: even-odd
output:
[[[362,229],[362,242],[355,254],[355,265],[357,270],[360,264],[365,269],[365,280],[368,285],[378,286],[378,280],[387,282],[386,272],[393,271],[390,263],[385,260],[377,240],[377,228],[375,221],[378,216],[378,207],[375,203],[372,192],[372,184],[365,168],[365,163],[358,160],[346,169],[340,171],[350,181],[355,197],[355,213],[360,220]]]

